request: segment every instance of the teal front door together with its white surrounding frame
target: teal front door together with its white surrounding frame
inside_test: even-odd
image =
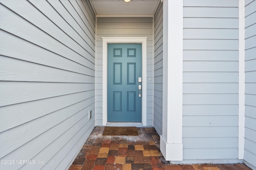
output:
[[[102,39],[102,125],[137,122],[146,126],[147,37]],[[111,61],[108,61],[108,52],[112,55]]]

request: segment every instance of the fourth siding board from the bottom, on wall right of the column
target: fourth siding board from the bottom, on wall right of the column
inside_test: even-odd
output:
[[[238,126],[238,116],[183,116],[183,127]]]

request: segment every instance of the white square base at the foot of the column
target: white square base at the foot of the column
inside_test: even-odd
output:
[[[182,143],[167,143],[162,135],[160,135],[160,150],[168,161],[183,160],[183,144]]]

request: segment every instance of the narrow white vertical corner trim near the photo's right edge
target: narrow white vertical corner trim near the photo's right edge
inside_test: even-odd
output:
[[[239,82],[238,82],[238,159],[244,159],[245,131],[245,1],[239,0]]]

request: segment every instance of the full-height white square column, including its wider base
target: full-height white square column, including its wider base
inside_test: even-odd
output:
[[[163,1],[163,120],[160,150],[166,160],[183,159],[183,0]]]

